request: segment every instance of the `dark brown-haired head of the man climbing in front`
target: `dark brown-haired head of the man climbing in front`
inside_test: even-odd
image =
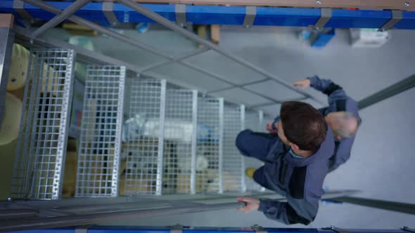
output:
[[[326,139],[327,123],[317,109],[305,102],[284,102],[281,106],[278,135],[293,149],[315,151]]]

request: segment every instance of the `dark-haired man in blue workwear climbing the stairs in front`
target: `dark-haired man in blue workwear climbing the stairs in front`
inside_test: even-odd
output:
[[[267,218],[286,224],[308,225],[317,215],[319,199],[333,154],[331,129],[317,109],[305,102],[284,102],[277,134],[242,131],[236,147],[246,157],[264,161],[246,173],[257,183],[285,196],[287,202],[239,197],[247,205],[239,211],[262,211]]]

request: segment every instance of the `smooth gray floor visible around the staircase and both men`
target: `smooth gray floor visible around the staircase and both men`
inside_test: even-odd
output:
[[[338,30],[336,38],[322,50],[309,48],[297,39],[294,32],[295,29],[276,27],[254,27],[250,30],[241,29],[241,27],[222,27],[220,46],[241,55],[288,82],[314,74],[319,74],[322,78],[333,79],[356,100],[415,74],[415,31],[394,31],[391,40],[385,46],[373,49],[350,48],[347,30]],[[166,32],[158,33],[165,34],[166,37],[171,35]],[[135,36],[135,34],[129,35]],[[137,36],[137,39],[153,43],[153,46],[166,51],[170,50],[175,55],[196,48],[195,44],[180,36],[169,37],[170,41],[166,37],[142,34]],[[97,39],[96,46],[108,55],[136,62],[137,65],[148,65],[150,60],[159,60],[143,51],[127,51],[129,47],[123,44],[117,48],[108,47],[110,41],[107,40],[98,41]],[[215,53],[205,54],[205,58],[198,59],[193,59],[192,62],[215,69],[215,72],[233,81],[238,81],[238,78],[241,78],[241,82],[259,79],[257,74],[246,71],[238,65],[231,65],[231,62],[216,66],[219,58]],[[158,69],[153,74],[188,87],[198,88],[201,91],[213,91],[224,86],[221,83],[206,81],[205,76],[186,75],[183,69],[174,66]],[[251,88],[278,98],[281,95],[287,98],[295,95],[271,84]],[[324,95],[312,90],[308,92],[316,95],[319,100],[326,101]],[[238,91],[226,91],[217,93],[217,95],[248,105],[263,101]],[[415,203],[415,162],[412,149],[415,142],[414,99],[415,89],[412,89],[362,110],[363,124],[352,149],[352,159],[327,176],[325,187],[359,189],[362,190],[360,197]],[[316,105],[316,107],[320,106]],[[279,112],[278,105],[270,105],[261,109],[269,114]],[[117,222],[122,225],[174,225],[176,223],[193,226],[245,227],[260,224],[264,227],[285,227],[278,222],[267,220],[262,213],[245,215],[234,210]],[[349,228],[396,229],[403,225],[415,227],[414,224],[414,215],[349,204],[321,204],[316,220],[307,227],[337,225]]]

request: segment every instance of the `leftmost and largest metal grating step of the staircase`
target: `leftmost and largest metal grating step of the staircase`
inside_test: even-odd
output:
[[[12,197],[59,199],[68,139],[75,52],[34,49],[30,54]]]

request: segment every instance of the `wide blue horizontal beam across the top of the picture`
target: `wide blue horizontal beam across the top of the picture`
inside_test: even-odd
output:
[[[46,1],[61,10],[70,6],[68,1]],[[171,21],[176,21],[174,5],[143,4]],[[52,13],[47,13],[35,6],[25,4],[25,10],[34,18],[50,20]],[[136,13],[122,4],[114,4],[113,11],[120,22],[154,22],[140,13]],[[20,15],[13,9],[13,0],[0,1],[0,13]],[[75,15],[86,20],[109,25],[102,11],[101,2],[91,2],[81,8]],[[254,25],[307,27],[314,25],[321,16],[317,8],[281,8],[257,7]],[[196,25],[243,25],[245,6],[186,6],[186,20]],[[333,16],[326,27],[335,28],[381,28],[392,18],[391,11],[368,11],[333,9]],[[397,29],[415,29],[415,11],[404,11],[403,18],[395,25]]]

